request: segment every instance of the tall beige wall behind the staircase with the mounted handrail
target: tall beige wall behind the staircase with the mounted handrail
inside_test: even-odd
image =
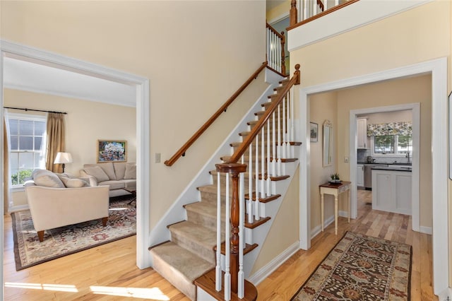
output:
[[[0,5],[5,40],[149,78],[150,153],[161,153],[162,162],[265,61],[265,1]],[[151,163],[150,228],[254,101],[231,106],[173,167]]]

